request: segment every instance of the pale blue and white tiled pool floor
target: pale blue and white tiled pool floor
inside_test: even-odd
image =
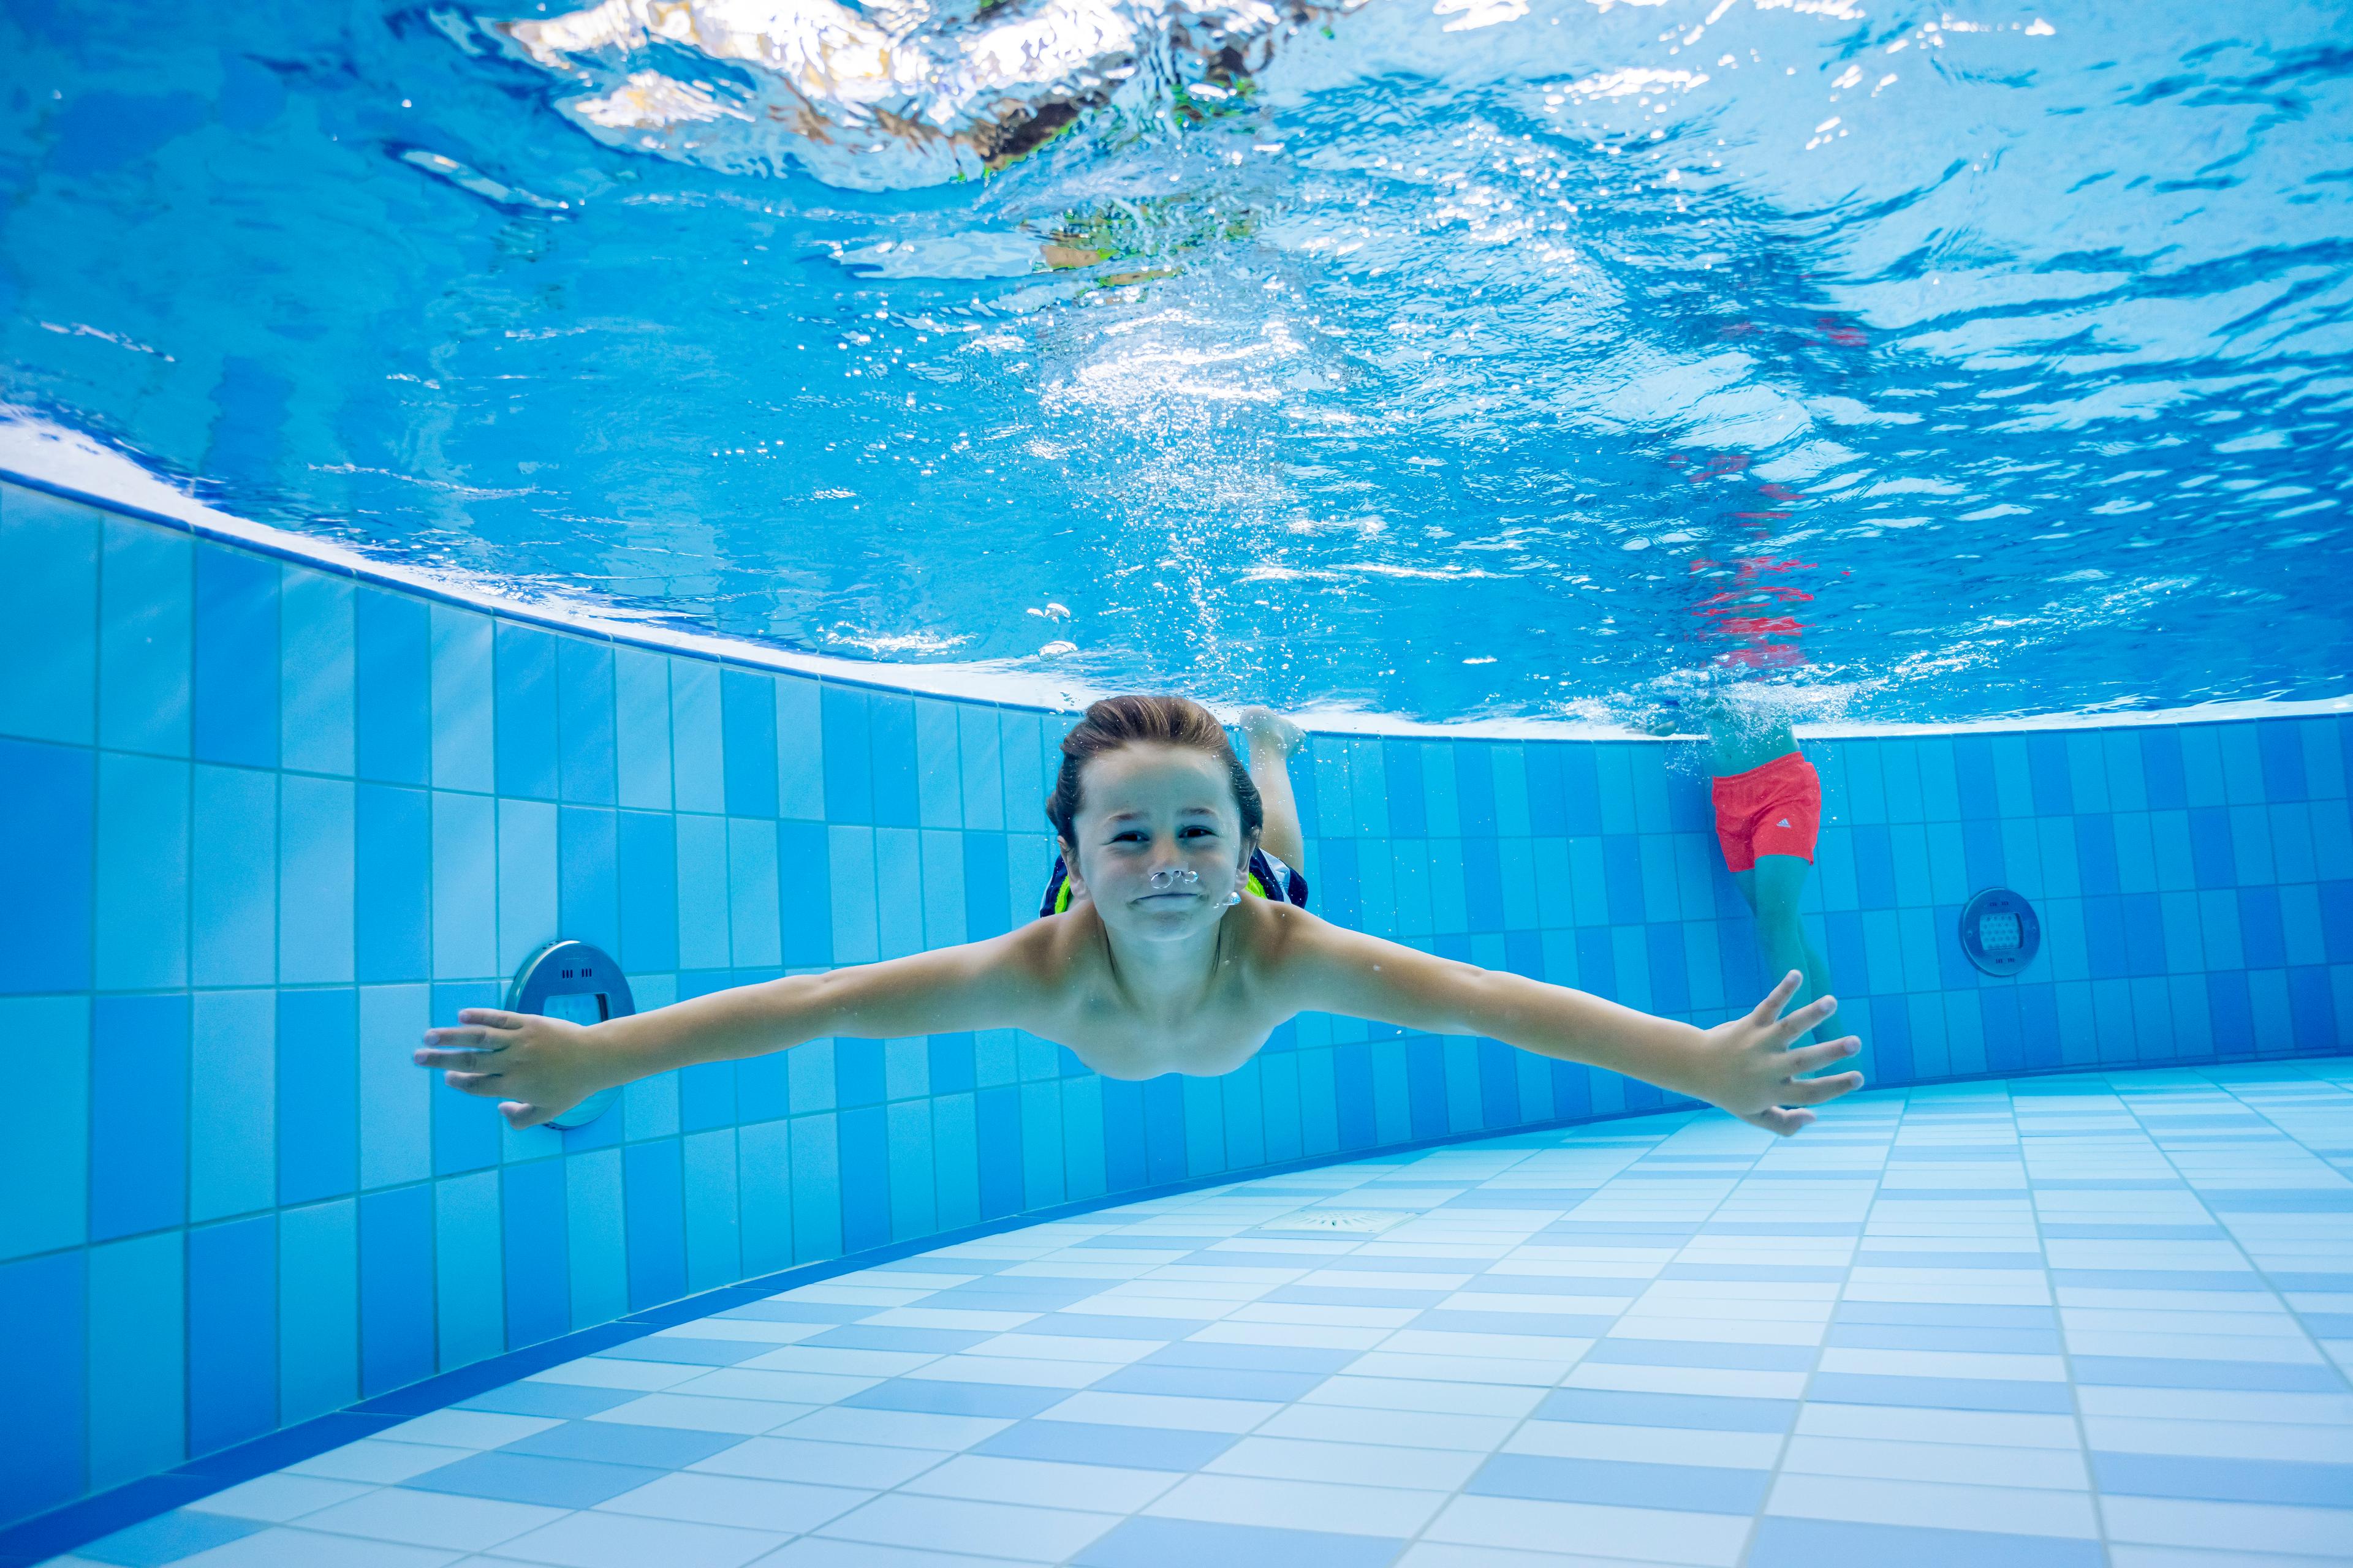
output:
[[[1661,1114],[1108,1208],[56,1561],[2353,1561],[2348,1088],[2344,1058],[1965,1084],[1791,1143]]]

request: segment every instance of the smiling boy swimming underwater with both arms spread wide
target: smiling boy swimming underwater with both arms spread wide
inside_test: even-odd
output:
[[[1814,1119],[1809,1105],[1861,1086],[1859,1072],[1802,1077],[1859,1041],[1791,1048],[1835,1006],[1821,997],[1784,1018],[1798,973],[1753,1011],[1699,1030],[1308,914],[1304,884],[1280,865],[1299,856],[1282,771],[1299,731],[1266,710],[1245,724],[1275,797],[1273,820],[1200,703],[1120,696],[1092,705],[1061,743],[1047,799],[1061,842],[1047,891],[1056,912],[1019,931],[595,1025],[466,1009],[456,1027],[426,1032],[416,1063],[445,1070],[454,1088],[499,1098],[508,1124],[539,1126],[614,1084],[831,1034],[1028,1030],[1106,1077],[1214,1077],[1247,1063],[1285,1020],[1320,1011],[1485,1034],[1647,1079],[1784,1135]]]

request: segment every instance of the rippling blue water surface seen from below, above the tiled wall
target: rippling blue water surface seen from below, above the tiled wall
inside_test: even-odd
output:
[[[9,5],[0,400],[847,658],[1424,719],[2344,689],[2339,5],[600,16]]]

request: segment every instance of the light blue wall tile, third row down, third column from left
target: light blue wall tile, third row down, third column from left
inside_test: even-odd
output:
[[[195,992],[191,1011],[198,1070],[188,1077],[188,1220],[271,1208],[278,1201],[278,997],[268,990]]]

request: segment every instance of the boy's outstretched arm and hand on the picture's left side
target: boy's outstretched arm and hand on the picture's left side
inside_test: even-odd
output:
[[[595,1025],[471,1006],[454,1027],[426,1030],[414,1060],[440,1067],[452,1088],[499,1100],[511,1126],[539,1126],[600,1088],[671,1067],[765,1056],[826,1034],[899,1039],[1019,1023],[1035,976],[1035,954],[1021,938],[1016,931],[736,985]]]

